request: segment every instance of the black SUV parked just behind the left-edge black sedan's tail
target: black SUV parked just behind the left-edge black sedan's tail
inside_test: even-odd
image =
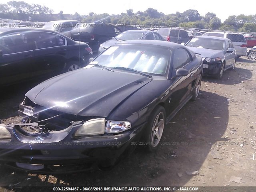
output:
[[[82,23],[71,31],[71,38],[75,41],[86,42],[93,52],[98,52],[100,44],[120,34],[118,26],[102,23]]]

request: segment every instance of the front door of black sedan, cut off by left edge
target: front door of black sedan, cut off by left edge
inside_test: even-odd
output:
[[[34,57],[28,32],[0,37],[0,85],[13,84],[32,77]]]

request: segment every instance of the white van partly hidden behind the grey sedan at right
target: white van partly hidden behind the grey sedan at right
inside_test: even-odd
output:
[[[243,34],[232,32],[207,32],[203,35],[228,38],[231,40],[232,44],[234,45],[234,48],[236,49],[236,56],[238,58],[240,56],[246,56],[247,43]]]

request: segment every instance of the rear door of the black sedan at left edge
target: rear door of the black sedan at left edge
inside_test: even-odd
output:
[[[66,38],[50,32],[32,32],[35,42],[33,68],[35,76],[52,76],[63,70],[67,54]]]

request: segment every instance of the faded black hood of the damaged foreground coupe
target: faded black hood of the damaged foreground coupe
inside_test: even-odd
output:
[[[60,112],[107,117],[150,81],[139,74],[82,68],[42,82],[26,96],[40,106]]]

